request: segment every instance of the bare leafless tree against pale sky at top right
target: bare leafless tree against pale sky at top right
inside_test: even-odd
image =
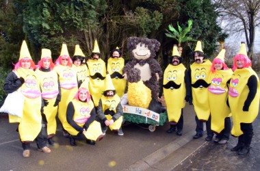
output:
[[[252,60],[255,30],[260,25],[259,0],[214,0],[218,4],[220,19],[226,23],[224,30],[231,34],[244,34],[248,57]]]

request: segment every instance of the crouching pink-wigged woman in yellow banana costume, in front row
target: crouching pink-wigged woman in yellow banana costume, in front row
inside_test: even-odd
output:
[[[87,143],[95,145],[103,139],[101,124],[96,120],[96,109],[90,92],[86,88],[79,88],[73,101],[68,103],[66,120],[69,124],[66,131],[70,133],[71,146],[76,146],[75,137],[84,137]]]

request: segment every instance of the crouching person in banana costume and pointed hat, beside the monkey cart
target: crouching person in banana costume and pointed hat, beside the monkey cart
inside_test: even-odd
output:
[[[99,107],[97,109],[97,120],[101,122],[103,135],[107,131],[107,127],[118,135],[124,135],[122,132],[122,124],[125,122],[122,116],[122,105],[120,97],[116,94],[111,77],[106,76],[105,91],[99,100]]]

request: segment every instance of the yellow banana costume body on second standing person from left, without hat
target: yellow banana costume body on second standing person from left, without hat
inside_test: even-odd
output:
[[[42,72],[41,70],[36,70],[36,75],[40,79],[40,87],[42,89],[42,98],[47,100],[49,104],[44,106],[44,114],[47,118],[48,135],[55,134],[57,129],[56,124],[56,114],[57,106],[54,107],[54,103],[59,93],[59,88],[57,84],[57,73],[55,70],[50,72]]]

